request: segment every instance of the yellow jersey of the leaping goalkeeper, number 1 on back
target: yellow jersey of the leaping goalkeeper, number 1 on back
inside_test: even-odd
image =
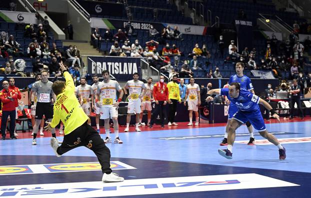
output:
[[[65,71],[63,76],[66,80],[64,91],[57,95],[54,103],[54,114],[51,127],[56,127],[61,121],[65,127],[64,134],[68,135],[73,130],[84,124],[88,116],[84,113],[74,94],[74,83],[69,72]]]

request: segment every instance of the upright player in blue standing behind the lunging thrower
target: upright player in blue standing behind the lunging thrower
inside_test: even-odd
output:
[[[242,63],[242,62],[236,63],[236,65],[235,65],[236,74],[230,76],[229,84],[231,84],[232,82],[237,82],[240,85],[241,89],[248,90],[254,94],[254,88],[252,87],[250,78],[248,78],[247,76],[244,76],[243,70],[244,70],[244,63]],[[225,97],[225,103],[226,104],[230,103],[226,97]],[[229,111],[228,111],[228,121],[227,121],[227,125],[225,126],[224,138],[221,141],[220,146],[227,145],[229,122],[236,112],[237,112],[236,105],[233,103],[230,103]],[[249,142],[247,143],[247,145],[254,145],[255,139],[254,139],[254,135],[252,133],[252,126],[251,126],[249,121],[247,121],[245,124],[247,126],[249,136],[250,136]]]

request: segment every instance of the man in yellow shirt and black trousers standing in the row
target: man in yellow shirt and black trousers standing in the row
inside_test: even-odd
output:
[[[179,85],[177,81],[177,76],[173,75],[172,81],[167,83],[168,89],[168,104],[169,104],[169,114],[168,114],[168,124],[167,126],[177,126],[178,124],[174,122],[176,108],[177,108],[177,101],[181,103],[181,98],[179,95]]]

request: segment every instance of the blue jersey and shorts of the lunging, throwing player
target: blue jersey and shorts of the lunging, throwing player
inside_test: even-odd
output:
[[[258,105],[260,98],[244,89],[240,89],[237,98],[230,98],[228,93],[228,88],[220,90],[220,95],[227,96],[230,104],[233,103],[238,109],[232,116],[232,119],[243,124],[249,121],[257,131],[264,131],[265,125]]]

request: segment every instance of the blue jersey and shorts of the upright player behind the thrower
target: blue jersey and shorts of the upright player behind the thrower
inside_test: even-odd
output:
[[[248,78],[247,76],[238,77],[236,74],[234,74],[234,75],[230,76],[228,83],[231,84],[232,82],[237,82],[241,89],[245,89],[245,90],[252,90],[253,89],[250,78]],[[228,120],[231,120],[231,118],[237,112],[237,110],[238,109],[237,109],[236,105],[230,103],[229,110],[228,110]]]

